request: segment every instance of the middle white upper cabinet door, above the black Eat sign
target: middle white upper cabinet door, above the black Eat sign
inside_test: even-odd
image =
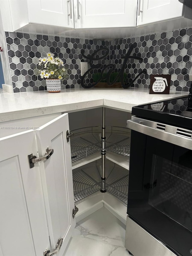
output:
[[[75,29],[135,27],[137,0],[73,0]]]

